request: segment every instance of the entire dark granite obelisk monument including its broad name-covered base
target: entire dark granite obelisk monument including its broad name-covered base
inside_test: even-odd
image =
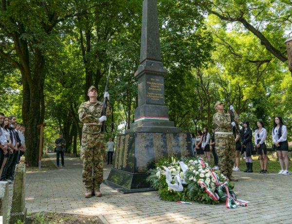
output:
[[[105,184],[121,192],[153,190],[146,182],[147,170],[171,155],[194,156],[189,133],[181,133],[169,121],[164,103],[164,75],[161,61],[157,0],[143,1],[138,107],[135,122],[117,136],[113,168]]]

